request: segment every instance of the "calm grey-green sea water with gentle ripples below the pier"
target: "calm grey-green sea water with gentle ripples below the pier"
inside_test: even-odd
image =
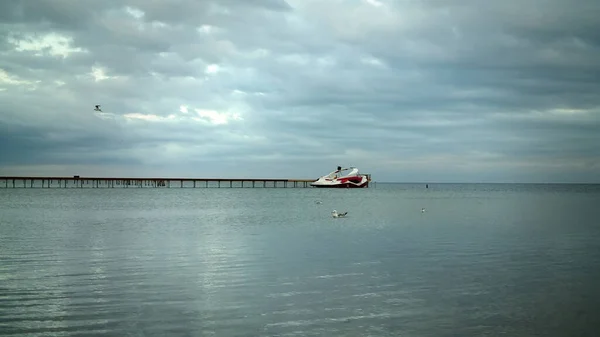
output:
[[[3,336],[598,336],[599,280],[598,185],[0,189]]]

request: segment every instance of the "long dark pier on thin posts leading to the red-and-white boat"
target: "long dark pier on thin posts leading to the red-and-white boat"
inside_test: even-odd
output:
[[[0,177],[0,188],[305,188],[316,179]]]

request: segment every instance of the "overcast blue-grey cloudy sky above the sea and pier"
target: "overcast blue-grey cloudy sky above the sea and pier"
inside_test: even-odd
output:
[[[598,12],[2,1],[0,176],[600,183]]]

